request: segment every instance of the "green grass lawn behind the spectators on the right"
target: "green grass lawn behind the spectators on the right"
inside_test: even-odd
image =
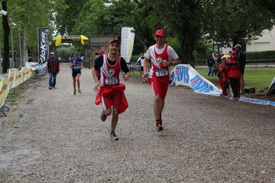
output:
[[[214,85],[220,87],[218,77],[207,76],[207,69],[196,69],[201,76],[210,80]],[[266,92],[273,78],[275,77],[275,68],[245,68],[245,88],[255,87],[256,94]]]

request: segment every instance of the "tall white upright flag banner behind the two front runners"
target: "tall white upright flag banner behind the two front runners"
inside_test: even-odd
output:
[[[130,62],[132,51],[134,47],[134,30],[133,28],[121,28],[121,57],[125,59],[126,63]]]

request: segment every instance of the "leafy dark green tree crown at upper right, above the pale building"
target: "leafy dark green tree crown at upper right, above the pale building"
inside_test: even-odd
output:
[[[274,25],[272,12],[255,6],[255,1],[211,1],[205,4],[204,10],[207,17],[203,24],[205,39],[220,47],[245,44],[245,39],[254,39]]]

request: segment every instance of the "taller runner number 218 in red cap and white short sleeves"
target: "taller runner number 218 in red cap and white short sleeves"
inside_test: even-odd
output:
[[[149,65],[148,60],[151,58],[152,67],[150,73],[145,72],[144,77],[148,77],[148,83],[152,85],[154,92],[154,116],[156,118],[156,131],[162,131],[161,112],[165,104],[165,96],[167,94],[168,85],[172,83],[170,77],[170,65],[178,65],[181,63],[178,54],[174,49],[164,43],[165,32],[157,30],[154,34],[156,44],[149,47],[143,61],[143,69],[147,71]]]

